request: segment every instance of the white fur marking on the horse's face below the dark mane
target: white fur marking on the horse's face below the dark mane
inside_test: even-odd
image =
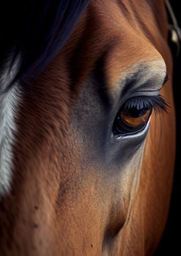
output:
[[[12,81],[19,61],[16,61],[11,72],[0,75],[0,197],[9,192],[11,169],[13,166],[12,146],[15,142],[15,115],[19,102],[19,88],[14,84],[4,92]]]

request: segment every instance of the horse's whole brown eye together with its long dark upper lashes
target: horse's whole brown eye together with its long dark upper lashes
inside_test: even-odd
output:
[[[130,98],[117,113],[113,124],[113,134],[129,135],[145,129],[152,110],[166,112],[168,103],[160,96],[137,96]]]

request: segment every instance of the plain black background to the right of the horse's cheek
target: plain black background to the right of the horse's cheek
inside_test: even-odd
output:
[[[180,1],[170,1],[178,24],[181,28],[181,4]],[[181,44],[181,42],[180,42]],[[181,45],[180,45],[181,46]],[[181,50],[181,49],[180,49]],[[162,241],[154,256],[174,256],[181,255],[181,54],[174,59],[174,98],[176,104],[176,121],[177,121],[177,148],[176,148],[176,166],[174,173],[174,185],[172,189],[172,198],[170,202],[170,212],[168,222]]]

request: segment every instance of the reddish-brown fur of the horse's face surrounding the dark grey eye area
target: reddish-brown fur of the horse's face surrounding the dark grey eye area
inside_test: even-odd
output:
[[[11,193],[1,201],[1,255],[152,255],[166,223],[174,168],[167,33],[164,1],[92,0],[64,49],[25,86]],[[105,52],[113,90],[140,59],[149,63],[163,57],[170,77],[162,94],[171,108],[168,115],[152,117],[131,212],[132,177],[125,175],[119,184],[127,187],[119,201],[121,195],[94,165],[80,165],[86,155],[72,133],[70,110]]]

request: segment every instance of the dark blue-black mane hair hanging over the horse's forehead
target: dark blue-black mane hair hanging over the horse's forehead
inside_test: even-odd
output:
[[[40,74],[68,40],[88,1],[1,1],[1,72],[7,62],[10,71],[21,56],[13,82],[29,82]]]

